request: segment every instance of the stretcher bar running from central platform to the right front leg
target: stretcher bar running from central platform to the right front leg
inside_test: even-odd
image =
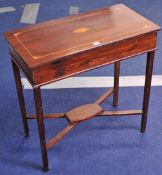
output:
[[[142,110],[103,111],[100,116],[141,115]]]

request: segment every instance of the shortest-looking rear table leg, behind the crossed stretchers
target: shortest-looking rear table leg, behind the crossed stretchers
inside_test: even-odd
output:
[[[114,93],[113,93],[113,106],[117,106],[117,104],[118,104],[119,75],[120,75],[120,62],[116,62],[116,63],[114,63]]]

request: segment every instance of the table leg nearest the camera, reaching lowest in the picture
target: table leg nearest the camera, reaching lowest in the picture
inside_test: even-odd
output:
[[[39,139],[42,151],[43,171],[48,171],[48,156],[46,149],[45,128],[43,122],[43,108],[42,108],[40,87],[34,88],[33,91],[34,91],[35,108],[36,108],[37,123],[39,130]]]

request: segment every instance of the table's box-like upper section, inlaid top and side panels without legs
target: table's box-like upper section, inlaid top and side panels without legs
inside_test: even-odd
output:
[[[159,29],[118,4],[4,35],[10,53],[37,86],[154,50]]]

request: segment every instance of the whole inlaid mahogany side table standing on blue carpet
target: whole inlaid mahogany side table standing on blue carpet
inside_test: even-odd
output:
[[[21,108],[25,135],[28,119],[37,119],[43,170],[48,171],[47,150],[80,122],[95,116],[142,115],[145,131],[157,32],[160,27],[123,4],[64,17],[5,32]],[[113,93],[118,103],[120,61],[147,53],[142,110],[104,111],[100,104]],[[63,114],[43,114],[40,87],[80,72],[114,63],[114,88],[96,102]],[[19,70],[33,87],[36,115],[27,115]],[[69,125],[46,143],[44,118],[68,120]]]

